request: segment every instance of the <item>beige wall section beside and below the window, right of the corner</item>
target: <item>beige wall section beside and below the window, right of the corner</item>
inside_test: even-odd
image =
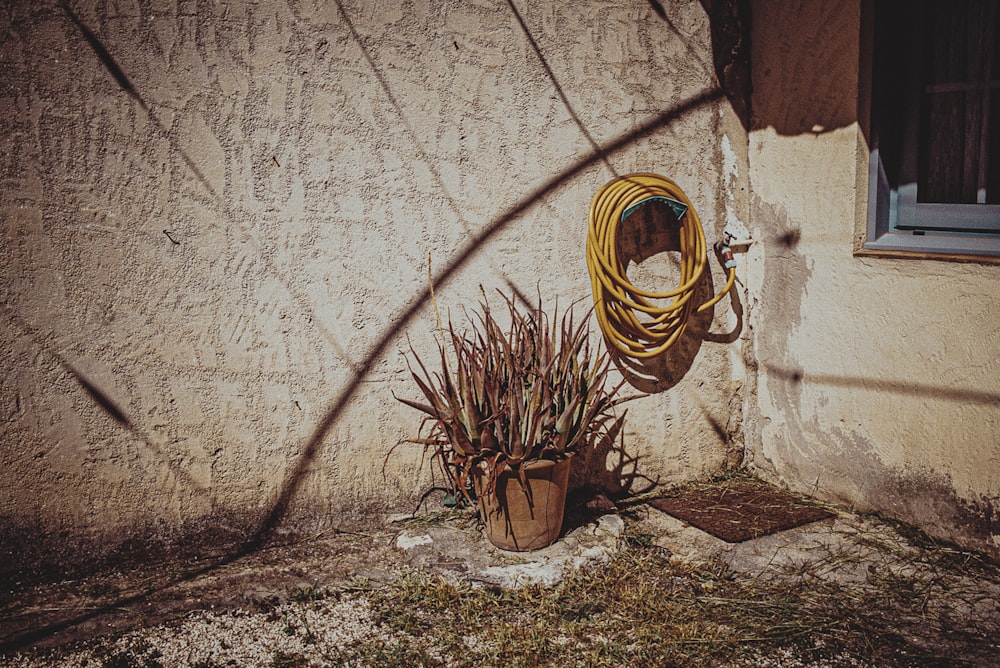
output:
[[[859,8],[752,11],[748,458],[1000,554],[1000,266],[852,256]]]

